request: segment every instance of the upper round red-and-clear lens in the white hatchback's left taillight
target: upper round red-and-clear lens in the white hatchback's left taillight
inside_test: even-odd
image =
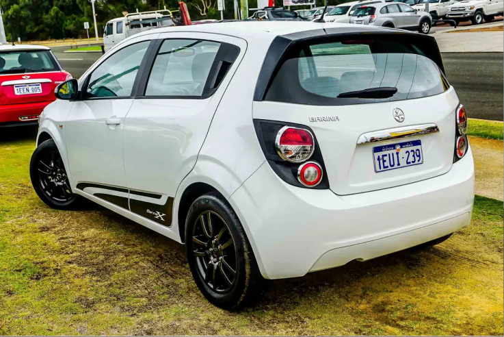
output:
[[[315,151],[312,134],[296,127],[282,127],[276,135],[275,147],[280,158],[289,162],[304,162]]]

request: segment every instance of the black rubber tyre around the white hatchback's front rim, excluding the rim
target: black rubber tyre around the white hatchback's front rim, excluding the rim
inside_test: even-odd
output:
[[[37,162],[40,160],[41,155],[45,151],[58,151],[59,150],[56,146],[56,143],[54,140],[49,139],[42,144],[38,145],[38,147],[35,149],[34,153],[31,155],[31,160],[29,164],[29,173],[30,173],[30,179],[31,179],[31,185],[34,187],[35,192],[37,193],[38,197],[40,200],[42,200],[46,205],[48,205],[51,208],[55,208],[57,210],[73,210],[76,208],[76,205],[78,203],[78,196],[74,195],[74,197],[68,201],[57,201],[54,199],[51,199],[49,195],[47,195],[44,190],[42,190],[42,186],[40,186],[40,182],[38,181],[38,171],[37,171]],[[61,154],[59,154],[61,156]],[[64,164],[64,162],[63,162]],[[68,170],[65,167],[65,171],[68,174]]]

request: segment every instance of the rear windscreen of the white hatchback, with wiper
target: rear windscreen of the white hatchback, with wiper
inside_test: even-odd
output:
[[[449,84],[438,66],[440,57],[434,42],[418,40],[413,34],[404,34],[402,38],[399,34],[362,35],[355,40],[339,38],[332,39],[334,42],[304,42],[292,47],[277,66],[264,99],[348,105],[417,99],[448,90]],[[429,56],[422,49],[427,49]],[[395,93],[394,88],[397,88]],[[377,98],[376,92],[372,98],[349,94],[359,90],[378,91],[388,96]]]

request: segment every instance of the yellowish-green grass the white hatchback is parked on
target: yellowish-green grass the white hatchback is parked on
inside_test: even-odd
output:
[[[471,226],[434,248],[278,280],[225,312],[176,242],[100,207],[44,205],[33,150],[0,139],[0,335],[503,334],[502,201],[476,197]]]

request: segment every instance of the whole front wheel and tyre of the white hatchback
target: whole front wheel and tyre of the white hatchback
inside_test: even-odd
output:
[[[31,155],[29,173],[31,185],[46,205],[56,210],[75,210],[82,199],[72,193],[63,160],[54,140],[38,145]]]

